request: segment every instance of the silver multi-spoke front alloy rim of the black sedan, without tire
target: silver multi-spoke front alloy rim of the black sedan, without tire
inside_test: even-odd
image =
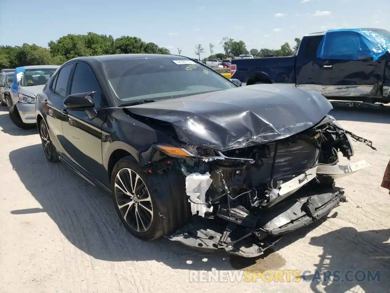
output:
[[[115,199],[123,220],[138,233],[147,232],[153,222],[153,204],[144,180],[130,168],[115,177]]]

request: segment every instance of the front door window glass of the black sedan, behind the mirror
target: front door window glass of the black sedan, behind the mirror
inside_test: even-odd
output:
[[[105,107],[106,102],[92,68],[86,63],[77,63],[72,80],[71,94],[91,91],[97,91],[93,97],[95,108]]]

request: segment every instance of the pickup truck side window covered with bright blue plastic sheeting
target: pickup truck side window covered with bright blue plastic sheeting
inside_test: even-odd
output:
[[[323,59],[358,60],[360,42],[357,32],[330,32],[324,41]]]

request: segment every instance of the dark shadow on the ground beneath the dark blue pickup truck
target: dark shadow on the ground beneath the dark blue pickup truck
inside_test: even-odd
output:
[[[390,106],[386,106],[390,109]],[[359,121],[390,124],[390,113],[384,113],[377,109],[374,110],[357,110],[357,109],[333,109],[329,113],[337,120]]]

